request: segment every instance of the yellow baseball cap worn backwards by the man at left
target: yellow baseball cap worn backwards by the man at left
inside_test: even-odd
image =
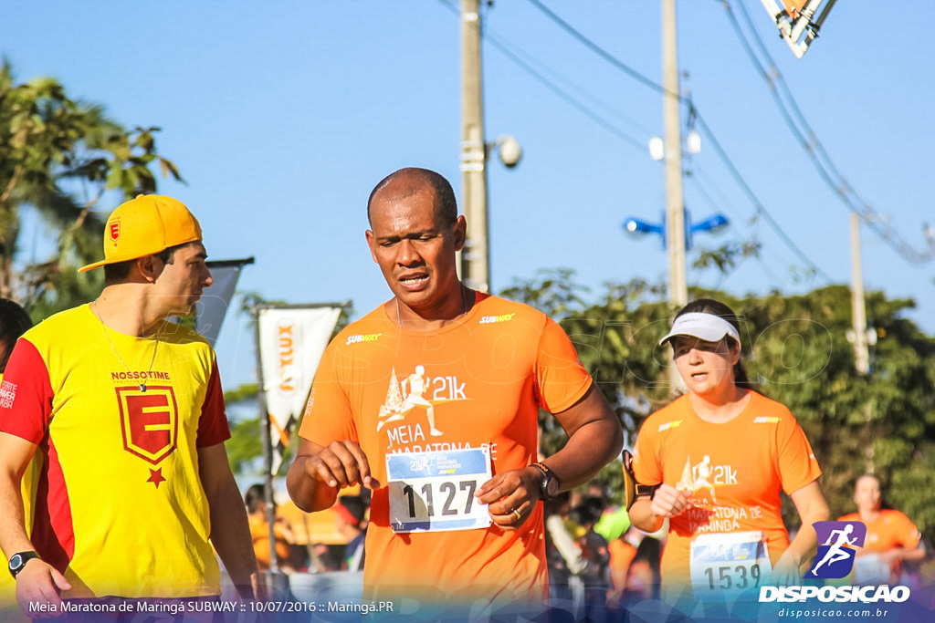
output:
[[[201,225],[180,201],[158,194],[137,195],[108,218],[104,260],[82,266],[78,272],[136,260],[197,240],[201,240]]]

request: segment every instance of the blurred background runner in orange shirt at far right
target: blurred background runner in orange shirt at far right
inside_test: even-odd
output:
[[[903,560],[926,557],[922,535],[913,522],[897,510],[882,508],[880,479],[873,474],[857,478],[854,486],[857,512],[838,521],[862,521],[867,540],[857,549],[854,580],[857,584],[898,584]]]

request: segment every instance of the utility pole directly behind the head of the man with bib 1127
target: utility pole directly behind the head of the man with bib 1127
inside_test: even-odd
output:
[[[461,0],[461,173],[468,240],[458,263],[468,288],[490,291],[487,153],[483,134],[480,0]]]

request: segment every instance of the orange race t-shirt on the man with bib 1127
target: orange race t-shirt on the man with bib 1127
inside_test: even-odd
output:
[[[299,434],[322,446],[356,442],[381,483],[367,530],[367,595],[543,598],[541,504],[517,531],[396,533],[386,456],[485,446],[494,475],[521,469],[536,460],[539,408],[564,411],[591,382],[553,320],[482,293],[464,318],[438,331],[400,328],[381,306],[339,333],[324,352]]]

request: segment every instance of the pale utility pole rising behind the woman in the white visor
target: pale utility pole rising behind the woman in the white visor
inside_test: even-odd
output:
[[[662,0],[662,94],[666,135],[666,247],[669,248],[669,302],[688,304],[685,281],[685,204],[682,194],[682,135],[679,117],[679,54],[675,0]],[[682,376],[669,365],[672,392],[684,389]]]

